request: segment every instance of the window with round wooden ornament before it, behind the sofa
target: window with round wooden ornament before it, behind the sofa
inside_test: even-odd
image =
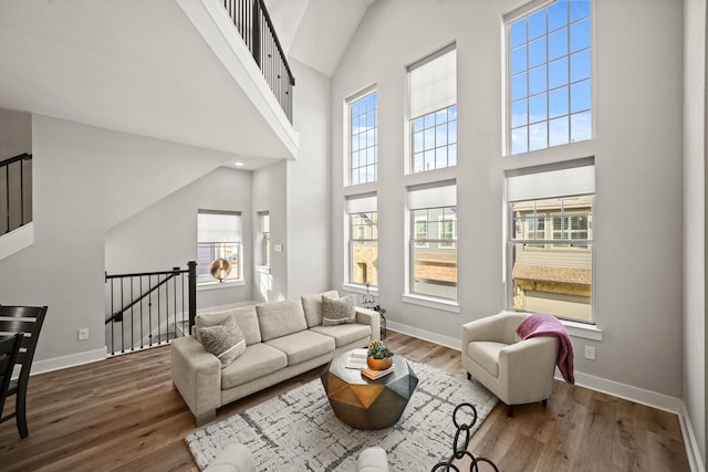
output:
[[[199,210],[197,212],[197,283],[218,282],[210,266],[217,259],[229,261],[225,282],[242,279],[241,213]]]

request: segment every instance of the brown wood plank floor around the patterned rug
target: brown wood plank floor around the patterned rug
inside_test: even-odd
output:
[[[386,343],[408,358],[464,375],[454,349],[396,333]],[[223,407],[217,417],[310,381],[320,370]],[[0,470],[197,470],[184,442],[194,417],[171,388],[168,347],[33,376],[28,402],[29,438],[20,440],[14,420],[0,424]],[[675,415],[563,382],[548,408],[517,407],[508,418],[499,403],[470,450],[508,472],[689,470]]]

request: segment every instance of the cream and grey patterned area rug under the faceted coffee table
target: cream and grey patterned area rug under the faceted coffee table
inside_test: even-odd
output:
[[[452,453],[455,407],[462,402],[475,406],[479,419],[473,432],[497,397],[465,375],[408,363],[419,382],[400,419],[389,428],[363,431],[343,423],[317,378],[199,428],[185,441],[200,469],[229,444],[240,442],[253,454],[259,471],[354,471],[360,452],[371,445],[384,448],[395,470],[428,471]]]

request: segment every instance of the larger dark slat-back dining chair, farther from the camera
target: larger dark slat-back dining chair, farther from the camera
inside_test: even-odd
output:
[[[46,315],[46,306],[6,306],[0,305],[0,336],[22,333],[21,347],[15,364],[21,365],[20,377],[10,380],[8,397],[15,396],[14,411],[2,416],[0,408],[0,423],[15,418],[20,438],[27,438],[27,385],[30,380],[32,359],[37,349],[37,340]],[[4,407],[2,405],[1,407]]]

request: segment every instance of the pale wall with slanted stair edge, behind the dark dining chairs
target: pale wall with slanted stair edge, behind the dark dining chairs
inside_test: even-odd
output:
[[[32,151],[34,244],[0,261],[0,300],[49,305],[35,355],[42,370],[105,354],[106,230],[229,155],[38,115]],[[79,328],[90,329],[87,340]]]

